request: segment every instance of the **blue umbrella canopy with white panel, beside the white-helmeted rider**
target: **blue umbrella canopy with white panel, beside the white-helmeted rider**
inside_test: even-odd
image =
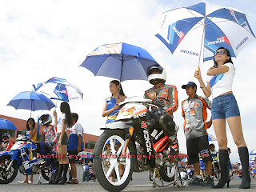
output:
[[[86,56],[80,66],[95,76],[126,80],[147,80],[146,70],[157,64],[144,49],[124,42],[99,46]]]

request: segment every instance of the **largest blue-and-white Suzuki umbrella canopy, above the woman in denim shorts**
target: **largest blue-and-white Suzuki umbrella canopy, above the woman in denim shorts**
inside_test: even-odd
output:
[[[214,52],[221,46],[236,57],[255,39],[246,14],[210,2],[164,12],[156,37],[172,54],[190,55],[199,62],[202,50],[204,61],[214,59]]]

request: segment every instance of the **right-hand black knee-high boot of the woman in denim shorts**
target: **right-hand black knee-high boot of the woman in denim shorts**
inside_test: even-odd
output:
[[[250,189],[250,175],[249,175],[249,153],[246,146],[238,148],[238,154],[242,164],[242,183],[240,189]]]

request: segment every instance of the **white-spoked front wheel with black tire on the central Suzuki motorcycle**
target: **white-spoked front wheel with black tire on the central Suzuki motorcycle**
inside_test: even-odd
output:
[[[110,141],[110,142],[109,142]],[[118,142],[116,142],[118,141]],[[107,143],[109,142],[109,143]],[[130,182],[134,170],[135,158],[125,158],[125,165],[123,165],[124,172],[122,178],[119,176],[120,165],[122,165],[114,156],[117,154],[120,145],[124,144],[124,131],[123,130],[106,130],[98,138],[94,147],[94,172],[99,184],[108,191],[121,191],[126,188]],[[114,151],[114,152],[113,152]],[[103,154],[103,155],[102,155]],[[132,141],[126,150],[127,154],[135,154],[135,146]],[[111,170],[112,172],[111,172]],[[114,181],[110,181],[110,175]]]

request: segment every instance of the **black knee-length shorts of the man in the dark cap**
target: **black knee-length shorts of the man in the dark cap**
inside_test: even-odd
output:
[[[191,165],[199,162],[198,154],[202,157],[203,162],[212,161],[208,135],[200,138],[187,138],[186,139],[186,150],[189,156],[187,164]]]

